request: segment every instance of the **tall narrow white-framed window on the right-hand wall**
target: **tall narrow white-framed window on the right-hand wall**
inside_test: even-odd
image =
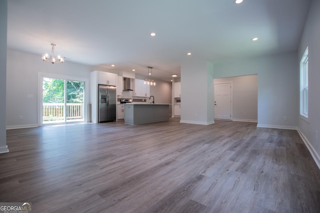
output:
[[[300,61],[300,114],[308,117],[308,47]]]

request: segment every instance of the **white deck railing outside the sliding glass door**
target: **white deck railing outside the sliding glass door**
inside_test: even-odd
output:
[[[42,103],[43,120],[64,118],[64,103]],[[83,119],[83,103],[66,103],[66,119]]]

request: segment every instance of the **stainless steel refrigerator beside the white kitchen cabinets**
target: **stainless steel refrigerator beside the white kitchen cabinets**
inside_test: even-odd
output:
[[[115,121],[115,86],[98,85],[98,122]]]

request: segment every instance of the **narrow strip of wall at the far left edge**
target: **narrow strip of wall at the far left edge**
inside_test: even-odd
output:
[[[5,130],[7,0],[0,1],[0,153],[8,152]]]

